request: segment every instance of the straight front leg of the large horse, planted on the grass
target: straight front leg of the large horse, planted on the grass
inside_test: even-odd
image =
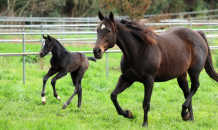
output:
[[[151,94],[153,90],[154,85],[154,77],[151,75],[148,75],[145,77],[144,80],[144,101],[143,101],[143,110],[144,110],[144,121],[142,126],[148,126],[148,111],[150,109],[150,100],[151,100]]]

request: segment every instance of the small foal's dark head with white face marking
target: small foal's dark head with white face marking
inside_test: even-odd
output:
[[[41,51],[39,52],[41,58],[43,58],[49,52],[51,52],[54,46],[54,39],[52,37],[50,37],[49,35],[47,37],[42,35],[42,37],[45,39],[45,42],[43,44]]]

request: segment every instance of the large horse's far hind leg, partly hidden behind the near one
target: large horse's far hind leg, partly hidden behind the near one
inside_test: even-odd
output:
[[[179,87],[182,89],[184,93],[185,99],[187,99],[190,93],[190,89],[188,87],[188,81],[187,81],[187,73],[184,73],[183,75],[179,76],[177,78],[177,81],[178,81]],[[181,115],[182,115],[183,120],[187,120],[187,119],[194,120],[191,101],[189,103],[188,111],[189,113],[186,112],[186,110],[182,110]]]

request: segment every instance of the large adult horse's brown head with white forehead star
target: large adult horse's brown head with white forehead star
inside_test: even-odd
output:
[[[101,12],[98,12],[98,17],[101,20],[97,28],[97,40],[95,47],[93,48],[93,53],[95,58],[101,59],[103,53],[114,47],[117,40],[117,32],[115,29],[114,15],[111,12],[109,17],[104,17]]]

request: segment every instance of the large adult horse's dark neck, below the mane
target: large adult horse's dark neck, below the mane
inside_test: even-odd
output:
[[[134,42],[135,41],[135,42]],[[121,31],[117,36],[117,46],[122,50],[125,59],[132,61],[137,55],[141,43],[130,33]]]

